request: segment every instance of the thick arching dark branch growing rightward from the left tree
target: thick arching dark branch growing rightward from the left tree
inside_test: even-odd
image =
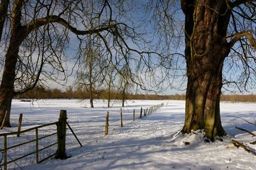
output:
[[[76,27],[72,27],[66,20],[64,20],[61,17],[58,17],[56,15],[51,15],[49,17],[44,17],[44,18],[38,18],[36,20],[32,20],[28,25],[25,26],[27,34],[29,34],[31,31],[34,29],[37,29],[38,27],[41,27],[42,25],[47,25],[49,23],[57,22],[64,27],[66,27],[68,30],[73,32],[76,35],[86,35],[86,34],[95,34],[101,31],[106,31],[108,29],[111,29],[113,27],[116,27],[118,24],[113,24],[113,25],[103,25],[102,27],[98,27],[97,29],[91,29],[91,30],[86,30],[86,31],[81,31],[76,29]]]

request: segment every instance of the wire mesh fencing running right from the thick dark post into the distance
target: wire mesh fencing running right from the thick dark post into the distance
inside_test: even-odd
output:
[[[162,104],[157,104],[154,106],[150,106],[149,108],[120,108],[118,111],[109,111],[109,125],[108,131],[112,132],[115,131],[116,128],[121,127],[122,124],[125,126],[138,119],[140,117],[144,117],[145,115],[152,113],[157,108],[163,106]],[[122,111],[122,120],[121,120],[121,113]],[[107,112],[107,111],[106,111]],[[97,142],[99,138],[105,135],[105,128],[106,128],[106,112],[102,113],[102,116],[95,116],[92,117],[90,115],[86,115],[86,113],[67,113],[67,122],[70,125],[72,131],[76,134],[79,142],[82,145],[86,145],[86,143],[93,143]],[[72,131],[67,128],[67,137],[66,137],[66,148],[67,150],[73,150],[75,148],[80,147],[79,142],[72,134]]]

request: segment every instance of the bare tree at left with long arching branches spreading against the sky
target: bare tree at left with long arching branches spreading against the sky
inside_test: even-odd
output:
[[[124,23],[130,20],[126,13],[132,6],[108,0],[1,1],[0,123],[8,111],[4,124],[10,126],[13,96],[33,89],[38,83],[66,80],[67,62],[73,59],[66,49],[70,45],[82,48],[90,35],[100,39],[100,53],[111,53],[106,60],[118,62],[120,59],[112,58],[115,50],[131,50],[139,56],[134,60],[141,61],[143,66],[152,52],[139,48],[145,39],[135,32],[132,20],[129,25]]]

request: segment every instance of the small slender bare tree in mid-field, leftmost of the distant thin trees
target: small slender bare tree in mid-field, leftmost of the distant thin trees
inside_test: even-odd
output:
[[[100,60],[99,50],[90,47],[84,50],[83,67],[77,73],[77,87],[90,94],[90,106],[93,107],[93,98],[99,94],[104,81],[102,78],[103,61]]]

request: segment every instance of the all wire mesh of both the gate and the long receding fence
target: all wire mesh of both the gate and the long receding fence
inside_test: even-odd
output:
[[[142,110],[142,116],[144,117],[144,113],[148,111],[147,114],[155,111],[157,108],[163,106],[163,104],[155,105],[152,108],[144,108]],[[135,118],[140,118],[141,108],[137,108],[135,110]],[[122,108],[122,120],[124,126],[133,122],[133,109]],[[67,123],[70,125],[72,131],[79,139],[79,142],[83,146],[86,146],[88,143],[97,143],[99,139],[104,136],[105,124],[106,124],[106,113],[102,113],[100,116],[92,117],[92,115],[88,116],[86,113],[70,113],[67,111]],[[115,131],[120,127],[120,111],[109,111],[109,132]],[[74,134],[67,127],[66,132],[66,150],[67,152],[79,148],[79,142],[75,138]],[[39,162],[47,159],[49,155],[53,155],[56,153],[57,145],[49,146],[53,143],[57,142],[57,134],[51,135],[57,132],[56,125],[49,125],[47,127],[40,127],[38,129],[38,160]],[[50,136],[51,135],[51,136]],[[47,137],[45,137],[47,136]],[[44,138],[45,137],[45,138]],[[0,136],[0,165],[3,164],[4,161],[4,136]],[[33,141],[30,142],[29,141]],[[26,143],[28,142],[28,143]],[[20,143],[26,143],[26,145],[19,145]],[[33,164],[36,162],[36,130],[27,131],[20,134],[20,137],[17,138],[17,134],[8,135],[7,136],[7,162],[15,160],[19,157],[23,157],[22,159],[15,160],[12,163],[8,164],[8,169],[26,169],[26,166],[29,164]],[[9,148],[11,146],[15,146],[13,148]],[[48,147],[49,146],[49,147]],[[47,148],[45,148],[47,147]],[[33,153],[29,155],[29,153]],[[27,155],[24,157],[24,155]],[[0,169],[3,169],[3,166],[0,166]]]

